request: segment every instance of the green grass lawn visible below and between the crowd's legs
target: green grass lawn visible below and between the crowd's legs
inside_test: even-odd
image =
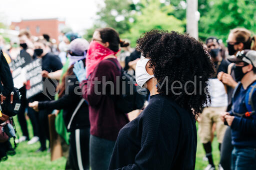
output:
[[[16,117],[14,117],[14,121],[17,128],[17,134],[21,136],[22,134]],[[32,127],[30,121],[28,121],[28,131],[30,137],[32,137]],[[195,170],[203,170],[207,166],[207,162],[202,161],[205,153],[199,139],[197,143]],[[18,147],[16,148],[16,155],[9,156],[8,160],[5,162],[0,162],[0,170],[64,170],[64,158],[51,162],[50,154],[47,153],[47,151],[42,153],[34,152],[39,147],[39,142],[33,145],[27,145],[26,142],[18,144]],[[219,151],[216,139],[213,140],[212,151],[213,160],[217,166],[219,162]]]

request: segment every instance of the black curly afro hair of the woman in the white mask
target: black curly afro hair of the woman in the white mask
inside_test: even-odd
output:
[[[164,30],[146,32],[138,42],[137,50],[150,59],[157,92],[170,96],[180,107],[196,115],[201,113],[207,99],[210,101],[208,78],[215,75],[202,43],[187,34]]]

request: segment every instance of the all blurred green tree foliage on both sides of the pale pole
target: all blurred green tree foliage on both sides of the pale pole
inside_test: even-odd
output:
[[[141,33],[152,28],[186,31],[186,0],[104,0],[98,20],[87,30],[90,39],[97,27],[113,27],[132,46]],[[244,27],[256,33],[256,0],[198,0],[199,39],[216,36],[226,40],[229,30]]]

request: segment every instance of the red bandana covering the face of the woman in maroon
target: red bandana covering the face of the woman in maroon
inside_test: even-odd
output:
[[[103,60],[105,57],[109,55],[115,55],[116,53],[117,52],[114,52],[109,48],[104,47],[97,41],[91,41],[87,51],[87,56],[85,61],[86,78],[88,78],[90,73],[92,73],[96,65],[101,60]]]

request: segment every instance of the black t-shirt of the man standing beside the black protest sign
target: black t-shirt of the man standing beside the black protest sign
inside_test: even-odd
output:
[[[50,52],[42,57],[42,70],[54,72],[62,68],[62,63],[57,55]]]

